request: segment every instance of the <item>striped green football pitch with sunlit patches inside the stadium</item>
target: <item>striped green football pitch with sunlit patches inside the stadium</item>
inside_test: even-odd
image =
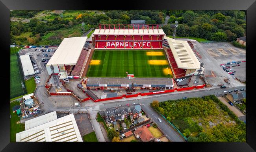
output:
[[[172,77],[162,50],[95,50],[87,77]]]

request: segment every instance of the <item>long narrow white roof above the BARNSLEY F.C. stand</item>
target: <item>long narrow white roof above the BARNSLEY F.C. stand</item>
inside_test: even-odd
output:
[[[165,35],[163,29],[95,29],[93,35]]]

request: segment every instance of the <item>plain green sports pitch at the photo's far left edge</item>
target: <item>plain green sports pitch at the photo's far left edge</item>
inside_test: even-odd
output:
[[[22,88],[21,82],[25,85],[22,71],[18,64],[18,55],[10,55],[10,99],[26,94],[26,89]]]

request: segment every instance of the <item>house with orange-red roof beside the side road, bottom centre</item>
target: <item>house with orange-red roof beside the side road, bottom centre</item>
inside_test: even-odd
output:
[[[149,142],[154,139],[154,136],[145,125],[136,128],[136,130],[134,131],[134,135],[136,138],[141,138],[143,142]]]

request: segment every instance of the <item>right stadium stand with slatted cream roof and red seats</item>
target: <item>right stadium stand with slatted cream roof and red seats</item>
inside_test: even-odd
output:
[[[185,40],[163,37],[163,49],[174,73],[174,77],[196,75],[200,69],[200,61]],[[202,68],[201,73],[204,68]]]

